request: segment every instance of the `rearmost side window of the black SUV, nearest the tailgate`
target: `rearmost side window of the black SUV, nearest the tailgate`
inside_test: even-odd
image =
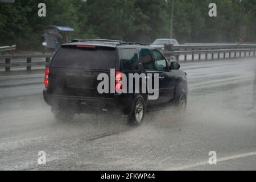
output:
[[[120,49],[121,71],[136,71],[139,69],[139,59],[137,49]]]

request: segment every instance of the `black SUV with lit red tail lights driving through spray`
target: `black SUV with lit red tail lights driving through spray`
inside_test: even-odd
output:
[[[146,111],[170,105],[185,110],[187,78],[179,68],[176,62],[168,63],[157,49],[140,43],[73,40],[60,46],[52,57],[46,69],[43,96],[58,120],[72,120],[80,113],[111,113],[129,118],[133,125],[140,125]],[[158,99],[148,100],[150,93],[142,92],[98,93],[98,75],[106,73],[111,77],[110,69],[115,69],[115,76],[119,73],[144,73],[148,78],[148,75],[158,73]],[[110,79],[109,85],[111,82]],[[117,80],[115,84],[118,84]]]

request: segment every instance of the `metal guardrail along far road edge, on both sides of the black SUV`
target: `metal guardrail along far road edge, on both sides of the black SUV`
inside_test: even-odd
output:
[[[243,57],[255,56],[256,54],[256,44],[184,44],[180,46],[166,45],[164,47],[166,51],[162,51],[163,54],[170,59],[170,56],[184,55],[185,61],[187,60],[187,55],[192,55],[192,60],[195,60],[195,55],[199,55],[198,60],[201,60],[201,55],[205,54],[205,60],[209,58],[211,54],[211,59],[214,59],[214,55],[217,53],[217,59],[220,59],[220,54],[223,53],[223,59],[231,57],[231,53],[234,52],[234,56]],[[246,53],[249,52],[249,55]],[[228,53],[228,56],[226,55]],[[253,53],[253,55],[251,54]],[[0,60],[5,60],[5,63],[0,63],[0,68],[5,68],[6,72],[10,72],[11,67],[27,67],[27,71],[31,70],[32,66],[42,66],[49,64],[52,54],[47,55],[0,55]],[[35,61],[32,62],[34,58],[45,58],[46,61]],[[26,62],[15,62],[11,63],[11,59],[26,59]]]

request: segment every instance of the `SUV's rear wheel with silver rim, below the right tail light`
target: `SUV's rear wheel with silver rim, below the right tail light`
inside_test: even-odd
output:
[[[133,104],[131,106],[129,124],[131,126],[140,126],[143,123],[145,115],[146,104],[144,98],[139,95],[134,98]]]

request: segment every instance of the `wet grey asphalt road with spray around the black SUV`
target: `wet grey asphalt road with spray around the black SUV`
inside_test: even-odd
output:
[[[169,108],[137,128],[111,115],[57,122],[43,101],[43,71],[1,73],[0,170],[256,170],[255,61],[181,64],[184,118]],[[210,151],[220,160],[213,166]]]

